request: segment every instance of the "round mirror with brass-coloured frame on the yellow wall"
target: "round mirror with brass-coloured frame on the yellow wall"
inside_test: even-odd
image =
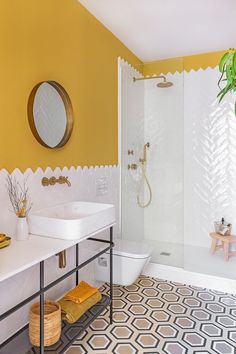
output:
[[[64,88],[55,81],[36,85],[29,97],[28,119],[40,144],[51,149],[65,145],[73,128],[73,111]]]

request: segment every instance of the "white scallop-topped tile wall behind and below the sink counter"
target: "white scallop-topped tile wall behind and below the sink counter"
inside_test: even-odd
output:
[[[119,168],[117,166],[101,166],[101,167],[81,167],[70,169],[64,167],[62,170],[56,168],[52,171],[47,168],[45,171],[38,169],[33,172],[27,169],[24,173],[16,169],[12,175],[20,182],[27,178],[31,199],[33,202],[33,209],[38,209],[43,206],[50,206],[53,204],[63,203],[66,201],[83,200],[96,201],[101,203],[112,203],[116,206],[117,220],[118,215],[118,199],[119,199]],[[50,187],[43,187],[41,179],[44,176],[68,176],[71,182],[71,187],[67,185],[55,185]],[[11,205],[6,190],[6,176],[7,171],[0,171],[0,232],[7,233],[14,237],[15,232],[15,215],[10,211]],[[102,195],[96,194],[96,181],[105,179],[107,182],[107,192]],[[117,227],[115,228],[115,236],[118,234]],[[95,246],[93,243],[85,241],[80,245],[80,261],[86,259],[93,251]],[[46,261],[45,274],[46,283],[52,281],[58,276],[67,272],[74,264],[74,248],[67,253],[67,268],[61,270],[57,266],[57,257],[52,257]],[[1,256],[1,250],[0,250]],[[18,274],[17,276],[0,283],[0,313],[5,312],[33,292],[38,290],[38,270],[39,267],[32,267],[29,270]],[[87,266],[80,272],[80,278],[95,283],[93,265]],[[74,280],[64,281],[57,287],[51,289],[47,297],[57,299],[65,291],[74,285]],[[0,343],[5,340],[10,334],[27,322],[28,306],[19,310],[15,315],[0,323]]]

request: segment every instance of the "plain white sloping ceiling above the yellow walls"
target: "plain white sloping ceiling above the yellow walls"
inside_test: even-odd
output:
[[[236,0],[79,0],[143,61],[236,47]]]

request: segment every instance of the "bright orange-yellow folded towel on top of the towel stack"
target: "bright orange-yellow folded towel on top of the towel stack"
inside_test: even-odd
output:
[[[93,288],[91,285],[82,280],[76,288],[70,290],[64,296],[64,300],[69,300],[75,302],[76,304],[81,304],[90,296],[94,295],[97,291],[98,290],[96,288]]]

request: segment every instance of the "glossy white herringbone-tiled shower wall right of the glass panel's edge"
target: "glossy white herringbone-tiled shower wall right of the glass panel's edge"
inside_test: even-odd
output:
[[[219,71],[184,77],[185,243],[209,247],[209,230],[224,216],[236,232],[236,97],[216,98]]]

